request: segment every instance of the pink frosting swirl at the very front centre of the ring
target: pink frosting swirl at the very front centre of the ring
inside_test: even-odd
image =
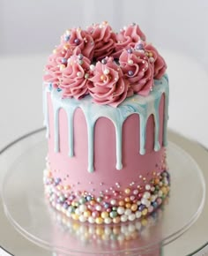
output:
[[[97,62],[90,80],[92,84],[88,88],[93,102],[117,107],[127,97],[128,83],[124,81],[123,72],[113,57]]]

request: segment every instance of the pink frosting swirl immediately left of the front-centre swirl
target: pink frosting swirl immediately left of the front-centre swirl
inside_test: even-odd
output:
[[[79,54],[71,56],[67,66],[63,69],[63,76],[60,88],[63,89],[63,98],[74,97],[82,98],[89,94],[88,86],[91,84],[88,79],[90,76],[90,60]]]

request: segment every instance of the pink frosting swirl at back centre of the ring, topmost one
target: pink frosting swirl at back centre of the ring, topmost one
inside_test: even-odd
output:
[[[108,22],[89,26],[87,31],[93,37],[94,58],[102,59],[110,56],[115,49],[115,33]]]

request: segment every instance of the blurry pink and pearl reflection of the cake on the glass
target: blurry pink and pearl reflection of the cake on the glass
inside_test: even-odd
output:
[[[166,200],[167,203],[167,200]],[[56,222],[54,233],[56,245],[64,248],[67,245],[78,254],[75,255],[162,255],[161,225],[163,211],[160,207],[152,215],[134,222],[116,225],[97,225],[75,222],[63,213],[50,211],[53,222]],[[83,253],[81,253],[83,252]],[[84,253],[85,252],[85,253]],[[55,254],[61,256],[63,254]]]

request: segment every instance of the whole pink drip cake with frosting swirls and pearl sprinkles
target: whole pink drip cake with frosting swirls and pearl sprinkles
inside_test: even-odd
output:
[[[150,215],[169,192],[167,64],[136,24],[66,30],[43,83],[45,193],[80,222]]]

